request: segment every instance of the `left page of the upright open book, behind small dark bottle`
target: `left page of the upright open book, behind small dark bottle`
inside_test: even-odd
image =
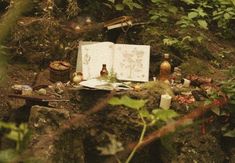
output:
[[[85,80],[99,77],[103,64],[106,64],[108,72],[111,72],[113,43],[102,42],[82,45],[81,54],[82,73]]]

